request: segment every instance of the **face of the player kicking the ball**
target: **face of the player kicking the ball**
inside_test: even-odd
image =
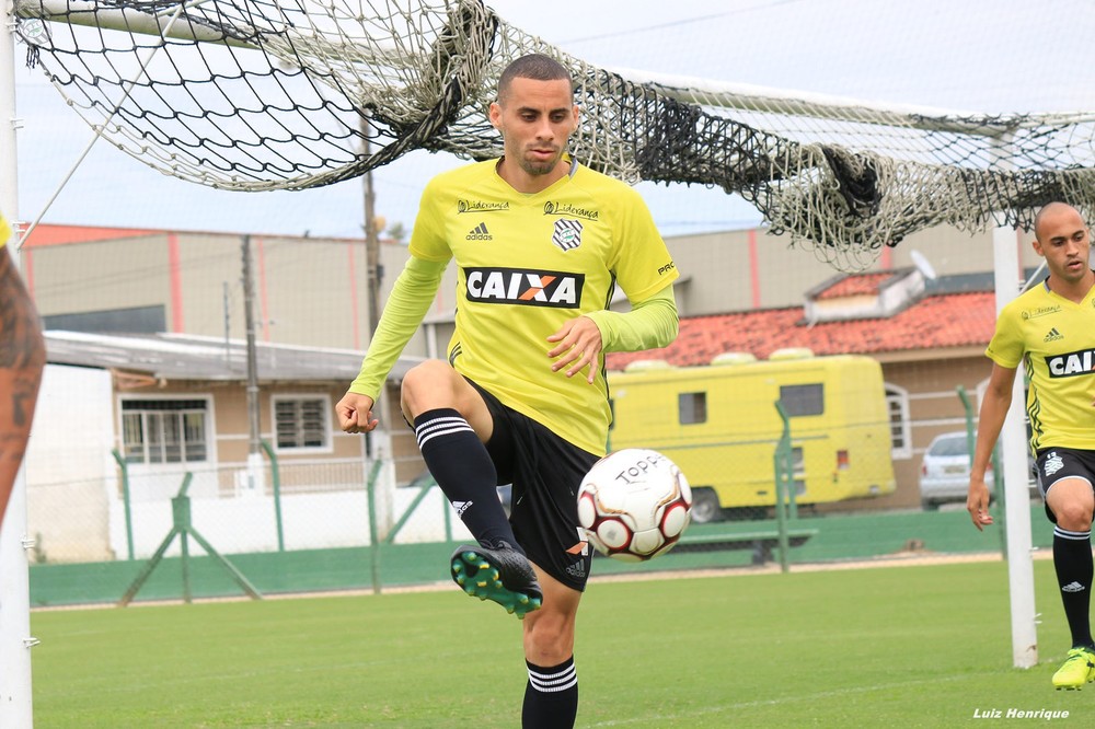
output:
[[[565,171],[560,159],[578,127],[578,107],[566,80],[514,79],[491,105],[491,124],[502,131],[503,177],[521,192],[539,192]]]

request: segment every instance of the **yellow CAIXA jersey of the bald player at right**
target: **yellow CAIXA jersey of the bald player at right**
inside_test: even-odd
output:
[[[986,351],[1026,366],[1030,447],[1095,450],[1095,288],[1080,303],[1039,284],[1007,303]]]

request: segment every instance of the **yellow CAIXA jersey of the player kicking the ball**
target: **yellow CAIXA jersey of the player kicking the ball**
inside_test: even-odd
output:
[[[607,309],[615,285],[641,301],[678,277],[649,210],[624,183],[570,163],[531,195],[497,160],[435,177],[423,194],[411,254],[456,259],[449,360],[507,406],[603,454],[610,419],[603,354],[596,380],[552,372],[548,342],[563,324]]]

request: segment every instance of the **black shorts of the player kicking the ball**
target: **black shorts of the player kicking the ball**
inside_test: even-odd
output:
[[[498,485],[512,484],[514,535],[538,567],[569,588],[585,590],[592,554],[578,525],[578,487],[600,456],[471,384],[494,419],[486,450],[498,471]]]

